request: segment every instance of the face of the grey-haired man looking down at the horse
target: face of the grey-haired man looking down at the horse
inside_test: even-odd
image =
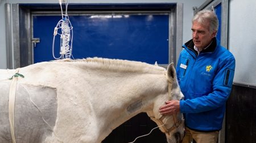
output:
[[[193,21],[191,28],[192,38],[195,46],[200,50],[203,50],[205,47],[207,47],[212,41],[212,38],[216,35],[216,32],[210,33],[209,26],[210,24],[208,21],[204,24]]]

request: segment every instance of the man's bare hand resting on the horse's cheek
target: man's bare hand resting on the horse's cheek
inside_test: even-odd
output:
[[[162,115],[172,115],[180,111],[180,101],[166,101],[166,105],[160,107],[159,112]]]

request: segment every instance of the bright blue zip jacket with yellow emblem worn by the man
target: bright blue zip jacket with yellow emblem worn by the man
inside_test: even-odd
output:
[[[185,124],[197,131],[219,131],[232,89],[235,59],[216,38],[200,54],[192,40],[183,47],[176,72],[184,94],[180,112],[184,113]]]

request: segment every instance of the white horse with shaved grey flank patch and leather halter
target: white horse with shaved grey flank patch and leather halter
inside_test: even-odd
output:
[[[20,74],[13,77],[16,88],[10,88],[15,80],[7,78],[15,73]],[[159,113],[168,99],[183,98],[172,64],[166,70],[117,59],[54,60],[19,71],[0,70],[0,80],[2,143],[100,143],[114,128],[140,112],[147,112],[160,126],[168,143],[180,142],[184,136],[181,114]],[[15,91],[13,101],[8,93]],[[13,119],[9,119],[10,102],[15,102]]]

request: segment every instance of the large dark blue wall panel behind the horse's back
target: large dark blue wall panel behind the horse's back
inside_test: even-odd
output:
[[[33,16],[34,63],[53,60],[53,29],[61,16]],[[102,57],[168,64],[169,15],[74,15],[73,57]],[[55,57],[59,57],[60,37],[55,37]]]

